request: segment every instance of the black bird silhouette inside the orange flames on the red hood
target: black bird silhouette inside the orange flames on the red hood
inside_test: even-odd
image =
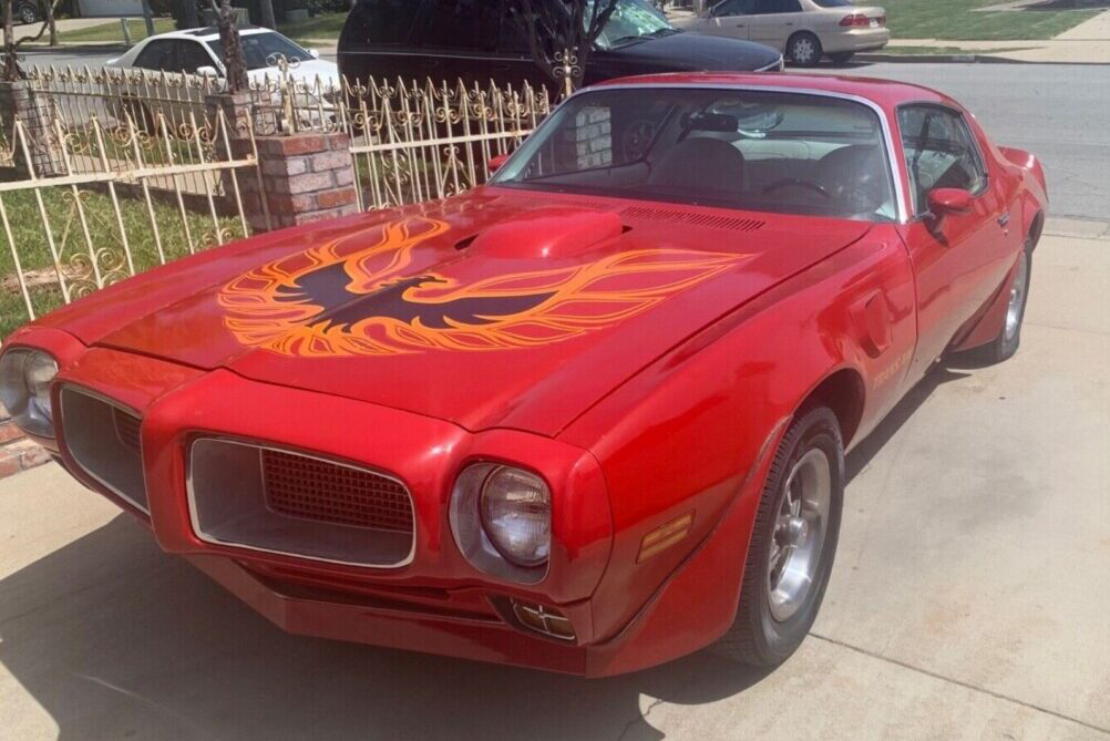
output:
[[[293,285],[279,286],[274,301],[311,304],[320,312],[307,319],[322,328],[347,327],[373,317],[392,318],[433,329],[493,324],[498,319],[535,308],[555,292],[517,296],[472,296],[445,302],[414,301],[410,288],[425,283],[446,283],[434,275],[418,275],[387,283],[372,293],[351,291],[344,263],[334,263],[299,275]]]

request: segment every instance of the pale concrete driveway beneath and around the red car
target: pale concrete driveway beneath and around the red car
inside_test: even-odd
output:
[[[0,484],[0,737],[1110,738],[1110,241],[1049,231],[1019,355],[937,368],[850,456],[824,611],[777,671],[287,636],[51,465]]]

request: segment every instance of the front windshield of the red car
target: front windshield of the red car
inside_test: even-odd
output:
[[[891,221],[885,141],[875,111],[838,98],[601,89],[559,106],[491,183]]]

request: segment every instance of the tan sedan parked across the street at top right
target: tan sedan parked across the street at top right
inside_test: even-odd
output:
[[[813,67],[823,55],[844,63],[890,41],[887,12],[851,0],[722,0],[702,17],[679,16],[673,22],[687,31],[776,47],[799,67]]]

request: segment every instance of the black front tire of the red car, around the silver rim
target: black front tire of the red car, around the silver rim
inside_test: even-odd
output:
[[[771,607],[770,558],[778,514],[783,511],[786,501],[788,476],[815,449],[824,453],[828,464],[830,490],[827,524],[817,547],[813,581],[794,608],[796,611],[786,619],[777,619]],[[753,667],[769,669],[786,661],[801,644],[817,618],[833,571],[844,508],[844,485],[840,425],[836,415],[827,407],[811,407],[799,414],[790,425],[767,474],[748,546],[736,620],[713,647],[716,653]]]

